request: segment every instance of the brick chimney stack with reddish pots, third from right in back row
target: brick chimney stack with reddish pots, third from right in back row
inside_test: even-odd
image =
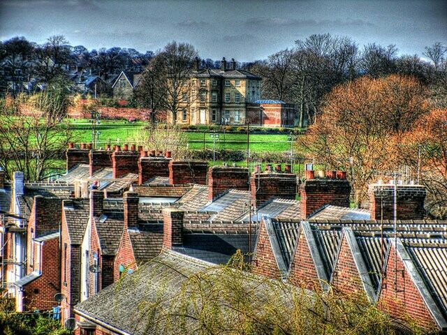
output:
[[[265,172],[251,174],[251,204],[259,207],[274,198],[295,200],[296,174],[272,171],[271,166]]]

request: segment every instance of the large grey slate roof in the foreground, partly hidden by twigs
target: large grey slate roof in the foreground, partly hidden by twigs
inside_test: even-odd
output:
[[[176,316],[166,320],[163,319],[164,312],[172,310],[171,308],[182,308],[184,300],[175,298],[182,288],[189,284],[188,278],[205,272],[214,278],[225,278],[227,281],[233,278],[228,270],[225,271],[221,267],[174,251],[164,251],[154,260],[140,266],[133,274],[124,276],[118,283],[82,301],[75,306],[75,313],[87,320],[93,322],[98,320],[115,329],[121,329],[127,334],[184,334],[185,328],[198,329],[200,325],[196,324],[197,321],[194,318]],[[281,303],[285,305],[292,303],[292,295],[284,294],[280,285],[266,282],[265,278],[248,272],[238,271],[235,275],[241,276],[244,290],[255,293],[256,297],[252,299],[252,304],[262,304],[266,299],[273,297],[281,299]],[[205,287],[205,290],[207,289],[208,287]],[[284,287],[282,289],[284,290]],[[185,299],[194,299],[189,290],[186,290]],[[219,306],[225,308],[228,302],[225,301],[224,295],[221,299],[222,303]],[[152,309],[150,306],[156,308]],[[261,305],[254,306],[254,311],[257,308],[261,309]],[[198,301],[198,310],[200,309]],[[228,320],[228,325],[231,325],[233,318],[237,318],[240,314],[231,308],[225,308],[223,315]]]

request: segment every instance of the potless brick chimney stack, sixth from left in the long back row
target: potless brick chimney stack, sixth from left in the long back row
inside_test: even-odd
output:
[[[208,198],[214,200],[230,188],[247,191],[249,170],[228,166],[213,166],[208,170]]]

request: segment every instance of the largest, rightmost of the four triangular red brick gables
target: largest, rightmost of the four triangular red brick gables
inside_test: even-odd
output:
[[[397,276],[395,277],[395,273]],[[397,279],[397,290],[395,289]],[[397,271],[395,272],[395,248],[391,246],[386,265],[386,279],[379,296],[379,308],[395,318],[417,322],[421,327],[432,328],[436,324],[413,284],[404,263],[397,254]]]

